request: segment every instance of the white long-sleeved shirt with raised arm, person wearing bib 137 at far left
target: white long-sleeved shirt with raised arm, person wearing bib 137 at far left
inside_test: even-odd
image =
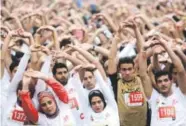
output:
[[[12,112],[14,112],[15,105],[16,105],[16,108],[19,107],[16,104],[16,102],[17,102],[16,89],[18,87],[19,82],[21,81],[21,79],[23,77],[23,73],[27,67],[29,58],[30,58],[30,54],[25,53],[19,63],[18,70],[17,70],[16,74],[14,75],[13,79],[11,80],[11,82],[8,86],[8,91],[5,92],[5,94],[7,94],[7,100],[5,101],[5,103],[3,103],[3,106],[2,106],[3,107],[3,113],[2,113],[3,126],[22,126],[23,125],[22,121],[13,121],[16,119],[12,120],[11,114],[12,114]],[[16,111],[15,115],[16,115],[16,113],[19,113],[19,114],[18,114],[18,117],[15,117],[15,118],[18,118],[18,120],[19,120],[19,116],[23,115],[23,114],[22,114],[22,112]]]

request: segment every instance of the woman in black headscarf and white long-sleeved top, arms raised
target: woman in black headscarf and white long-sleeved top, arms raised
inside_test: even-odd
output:
[[[86,123],[89,126],[119,126],[118,108],[113,93],[98,70],[95,70],[93,74],[102,92],[97,89],[92,90],[87,99],[87,93],[80,80],[75,83],[76,88],[79,89],[79,95],[82,100],[84,99]]]

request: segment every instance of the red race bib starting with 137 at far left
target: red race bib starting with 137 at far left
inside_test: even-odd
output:
[[[12,120],[19,121],[19,122],[25,122],[26,115],[24,111],[14,110],[12,114]]]

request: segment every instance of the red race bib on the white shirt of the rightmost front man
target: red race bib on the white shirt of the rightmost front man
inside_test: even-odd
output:
[[[166,106],[166,107],[160,107],[159,108],[159,118],[176,118],[176,111],[175,107],[173,106]]]

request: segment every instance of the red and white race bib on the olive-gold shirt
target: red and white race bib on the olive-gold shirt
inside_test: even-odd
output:
[[[143,94],[141,92],[125,93],[124,100],[128,106],[142,106],[144,102]]]

